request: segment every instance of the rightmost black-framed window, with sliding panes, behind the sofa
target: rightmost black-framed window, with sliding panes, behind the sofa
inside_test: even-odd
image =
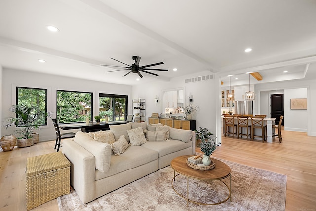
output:
[[[105,116],[109,117],[109,121],[123,121],[127,115],[126,95],[100,94],[99,95],[99,115],[101,121],[105,120]]]

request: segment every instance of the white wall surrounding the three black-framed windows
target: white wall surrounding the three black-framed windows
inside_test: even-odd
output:
[[[2,100],[1,115],[2,125],[7,123],[7,118],[12,116],[9,112],[11,105],[16,104],[16,86],[46,88],[48,90],[48,112],[56,117],[56,90],[67,91],[85,91],[93,93],[93,116],[98,114],[98,96],[99,93],[122,94],[128,96],[128,113],[131,113],[132,107],[132,86],[102,83],[77,78],[61,77],[36,72],[20,71],[13,69],[3,69],[2,73]],[[1,127],[2,135],[14,134],[15,127],[9,127],[7,130]],[[37,130],[40,141],[54,140],[55,130],[52,121],[48,120],[48,125]]]

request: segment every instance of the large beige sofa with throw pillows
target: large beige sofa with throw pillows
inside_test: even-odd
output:
[[[83,203],[166,167],[178,156],[195,153],[194,131],[163,127],[163,138],[161,130],[155,132],[155,127],[162,128],[147,126],[146,122],[110,127],[109,133],[104,134],[113,134],[115,140],[109,143],[96,141],[96,133],[83,132],[77,132],[73,140],[64,140],[63,153],[71,162],[71,185]],[[132,133],[140,129],[148,136],[146,141],[146,135]],[[142,143],[137,139],[142,139]],[[123,153],[114,150],[123,146],[127,147]]]

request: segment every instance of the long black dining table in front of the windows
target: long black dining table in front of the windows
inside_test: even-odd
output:
[[[62,130],[81,129],[82,132],[95,132],[100,130],[110,130],[110,125],[120,125],[128,123],[128,121],[113,121],[113,122],[85,122],[79,123],[59,123],[59,128]]]

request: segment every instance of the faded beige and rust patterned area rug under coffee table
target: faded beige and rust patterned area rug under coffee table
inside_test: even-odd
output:
[[[124,187],[83,204],[76,191],[57,198],[60,211],[284,211],[286,176],[241,164],[223,161],[232,169],[232,202],[199,205],[187,202],[171,186],[173,169],[168,166]],[[215,167],[216,168],[216,167]],[[223,180],[229,185],[229,178]],[[179,175],[173,183],[183,196],[187,179]],[[227,198],[229,191],[220,181],[189,179],[189,199],[216,203]]]

